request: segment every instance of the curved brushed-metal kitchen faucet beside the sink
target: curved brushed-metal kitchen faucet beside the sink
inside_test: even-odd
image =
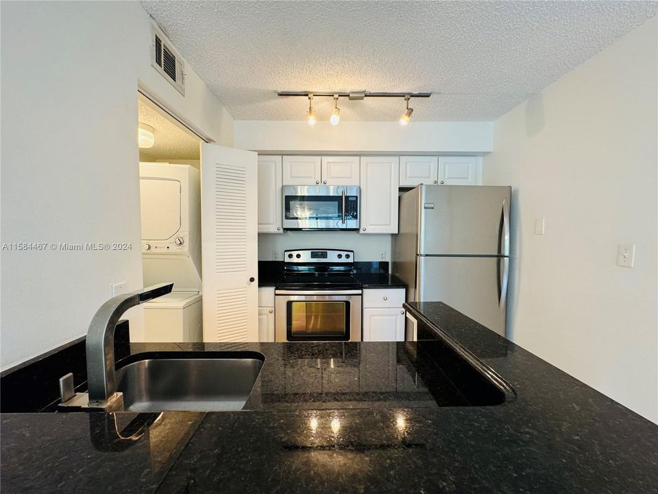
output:
[[[171,292],[173,283],[160,283],[136,292],[110,298],[101,305],[87,331],[87,384],[89,407],[105,410],[123,408],[114,377],[114,329],[127,309]]]

